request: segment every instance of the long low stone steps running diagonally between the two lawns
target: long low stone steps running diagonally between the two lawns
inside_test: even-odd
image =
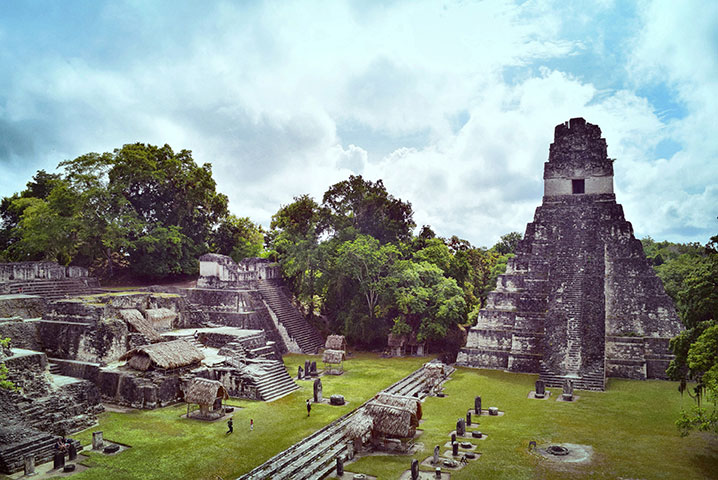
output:
[[[447,377],[454,371],[449,367]],[[414,371],[393,385],[383,390],[386,393],[421,397],[425,393],[424,367]],[[371,401],[371,400],[369,400]],[[351,417],[366,404],[336,419],[329,425],[317,430],[300,442],[278,453],[251,472],[240,477],[240,480],[321,480],[326,478],[336,467],[336,459],[347,452],[347,440],[344,429]]]

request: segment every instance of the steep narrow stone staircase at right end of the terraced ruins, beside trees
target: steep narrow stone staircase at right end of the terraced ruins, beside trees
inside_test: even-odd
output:
[[[316,354],[324,347],[322,336],[292,305],[278,285],[267,280],[258,280],[257,288],[279,322],[286,328],[289,337],[297,342],[302,353]]]

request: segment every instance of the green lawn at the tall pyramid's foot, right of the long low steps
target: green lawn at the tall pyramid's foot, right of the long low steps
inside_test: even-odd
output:
[[[435,445],[443,454],[456,421],[481,395],[483,408],[496,406],[505,415],[479,417],[478,429],[487,438],[472,442],[481,458],[452,472],[452,480],[718,478],[718,439],[678,434],[674,421],[681,406],[690,407],[692,400],[681,398],[675,382],[609,379],[605,392],[576,391],[580,398],[566,403],[556,401],[560,389],[550,389],[553,394],[547,400],[527,398],[537,378],[458,368],[445,383],[447,397],[431,397],[422,405],[423,433],[416,442],[423,444],[423,451],[413,457],[367,456],[345,468],[393,479],[409,468],[412,458],[421,462],[431,456]],[[531,440],[544,447],[590,445],[593,457],[582,464],[547,460],[528,452]]]

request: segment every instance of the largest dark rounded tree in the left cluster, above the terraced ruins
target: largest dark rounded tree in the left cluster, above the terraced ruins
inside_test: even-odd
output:
[[[101,259],[111,272],[119,262],[144,277],[195,273],[228,214],[211,165],[198,166],[188,150],[136,143],[60,166],[84,202],[80,258]]]

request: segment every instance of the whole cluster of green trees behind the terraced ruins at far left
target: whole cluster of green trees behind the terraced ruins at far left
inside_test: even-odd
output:
[[[62,174],[41,170],[3,199],[6,259],[81,265],[101,276],[125,268],[150,278],[191,274],[214,229],[232,221],[210,164],[198,166],[188,150],[136,143],[59,166]]]

